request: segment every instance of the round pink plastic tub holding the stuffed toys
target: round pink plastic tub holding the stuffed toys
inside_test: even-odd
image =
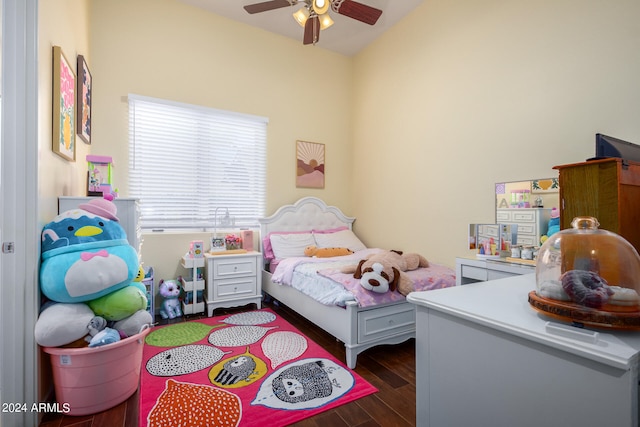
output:
[[[95,414],[135,393],[149,330],[100,347],[43,347],[51,358],[56,400],[61,407],[68,404],[68,415]]]

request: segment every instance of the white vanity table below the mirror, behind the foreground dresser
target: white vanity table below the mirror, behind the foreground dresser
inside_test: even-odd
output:
[[[475,257],[456,258],[456,285],[458,286],[535,272],[535,265],[478,259]]]

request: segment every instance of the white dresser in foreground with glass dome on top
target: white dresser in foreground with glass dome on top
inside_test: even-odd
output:
[[[533,310],[535,275],[414,292],[421,427],[637,427],[640,332]]]

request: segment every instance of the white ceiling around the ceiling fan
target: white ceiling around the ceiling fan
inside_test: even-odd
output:
[[[303,29],[293,20],[293,12],[302,7],[299,5],[284,7],[268,12],[249,14],[243,6],[261,3],[265,0],[179,0],[192,6],[205,9],[216,15],[262,28],[300,41],[302,44]],[[320,32],[317,47],[322,47],[343,55],[352,56],[365,48],[369,43],[391,28],[396,22],[414,10],[423,0],[358,0],[382,10],[378,22],[371,26],[355,19],[330,11],[335,24]],[[308,46],[313,49],[314,46]]]

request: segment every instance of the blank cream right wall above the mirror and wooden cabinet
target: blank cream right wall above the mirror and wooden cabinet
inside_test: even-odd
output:
[[[453,266],[494,183],[557,176],[596,132],[640,143],[640,3],[425,0],[355,59],[352,214]]]

